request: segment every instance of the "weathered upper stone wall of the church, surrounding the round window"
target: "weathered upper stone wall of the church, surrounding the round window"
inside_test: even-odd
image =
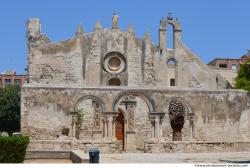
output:
[[[51,43],[40,32],[40,22],[28,24],[31,84],[107,86],[112,77],[123,86],[170,87],[167,61],[176,60],[175,83],[179,88],[220,89],[228,82],[200,61],[179,38],[174,49],[159,48],[150,35],[136,38],[134,30],[104,29],[97,23],[93,33],[78,32],[70,40]],[[34,24],[32,27],[31,25]],[[39,36],[39,37],[38,37]],[[180,36],[180,35],[178,35]],[[119,73],[105,70],[106,56],[117,52],[124,58],[125,69]]]

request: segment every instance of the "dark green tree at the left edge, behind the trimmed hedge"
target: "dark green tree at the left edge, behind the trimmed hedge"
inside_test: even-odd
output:
[[[0,90],[0,132],[20,130],[20,88],[7,85]]]

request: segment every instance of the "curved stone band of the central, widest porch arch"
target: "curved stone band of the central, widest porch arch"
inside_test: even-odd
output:
[[[121,92],[118,96],[116,96],[116,98],[113,101],[112,104],[112,110],[113,111],[117,111],[118,110],[118,105],[120,104],[120,102],[122,101],[122,97],[124,96],[137,96],[139,98],[141,98],[142,100],[144,100],[148,106],[149,112],[154,112],[155,111],[155,103],[152,99],[149,98],[148,95],[144,94],[143,92],[140,91],[124,91]]]

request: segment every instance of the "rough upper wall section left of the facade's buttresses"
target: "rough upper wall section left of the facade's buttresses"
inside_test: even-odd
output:
[[[31,84],[83,85],[82,52],[79,39],[45,44],[29,52]]]

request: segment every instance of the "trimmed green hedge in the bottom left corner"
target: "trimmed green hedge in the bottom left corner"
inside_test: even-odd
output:
[[[22,163],[28,143],[27,136],[0,136],[0,163]]]

